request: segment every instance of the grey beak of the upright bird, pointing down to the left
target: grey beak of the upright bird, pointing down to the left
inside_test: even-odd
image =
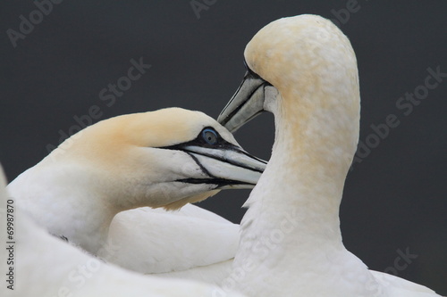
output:
[[[217,121],[234,133],[249,120],[264,111],[266,87],[272,87],[256,73],[248,70],[242,83],[226,104]]]

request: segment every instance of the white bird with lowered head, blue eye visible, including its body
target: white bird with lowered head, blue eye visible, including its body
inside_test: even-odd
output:
[[[81,130],[8,191],[49,233],[122,267],[165,273],[232,259],[239,226],[193,205],[130,209],[175,210],[252,188],[265,166],[204,113],[170,108]]]

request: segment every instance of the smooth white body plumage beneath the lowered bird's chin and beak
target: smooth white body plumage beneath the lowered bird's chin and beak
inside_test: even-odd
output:
[[[135,230],[144,232],[136,236]],[[160,274],[230,260],[238,242],[239,225],[192,204],[180,211],[143,207],[116,215],[97,255],[140,273]]]

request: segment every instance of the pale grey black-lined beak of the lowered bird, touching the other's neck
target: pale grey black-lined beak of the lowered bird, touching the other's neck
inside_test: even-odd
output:
[[[196,161],[209,178],[187,178],[181,180],[191,184],[213,184],[216,189],[251,189],[257,184],[266,161],[241,150],[233,144],[219,148],[186,145],[182,148]]]

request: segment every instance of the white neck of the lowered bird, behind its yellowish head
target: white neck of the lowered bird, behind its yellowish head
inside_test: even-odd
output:
[[[20,197],[21,208],[49,233],[95,254],[120,210],[108,203],[110,197],[101,196],[101,181],[89,170],[76,164],[46,165],[43,162],[23,172],[8,186],[10,194]]]

